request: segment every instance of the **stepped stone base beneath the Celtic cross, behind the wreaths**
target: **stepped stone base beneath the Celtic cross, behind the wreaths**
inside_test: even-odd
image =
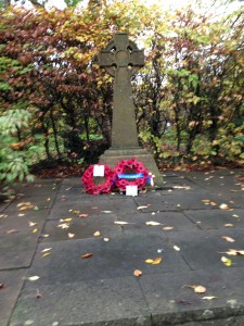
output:
[[[145,168],[154,174],[154,184],[157,187],[163,186],[163,177],[158,171],[156,162],[152,154],[147,153],[146,150],[134,147],[134,148],[110,148],[99,159],[99,163],[104,163],[114,167],[121,160],[129,160],[136,158],[139,162],[142,162]]]

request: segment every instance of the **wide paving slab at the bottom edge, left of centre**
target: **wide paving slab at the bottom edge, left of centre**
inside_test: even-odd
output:
[[[134,277],[75,281],[24,289],[10,322],[23,325],[151,325],[151,315]],[[47,324],[47,322],[49,324]]]

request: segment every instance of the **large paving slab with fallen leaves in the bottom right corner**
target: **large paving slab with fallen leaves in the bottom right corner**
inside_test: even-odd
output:
[[[192,325],[202,325],[206,321],[244,315],[244,297],[240,288],[244,281],[244,268],[206,268],[169,273],[167,277],[160,274],[154,277],[146,275],[139,281],[152,313],[153,325],[185,325],[192,321]],[[194,292],[189,287],[194,285],[205,287],[206,293]],[[207,300],[204,297],[216,298]],[[220,325],[232,325],[226,319]]]

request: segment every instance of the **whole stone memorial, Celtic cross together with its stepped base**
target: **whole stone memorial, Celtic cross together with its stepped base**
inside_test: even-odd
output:
[[[144,51],[139,50],[126,33],[117,33],[100,51],[99,63],[114,77],[112,147],[100,156],[100,163],[115,166],[123,159],[136,158],[155,175],[155,185],[162,186],[163,179],[153,155],[138,142],[130,78],[144,65]]]

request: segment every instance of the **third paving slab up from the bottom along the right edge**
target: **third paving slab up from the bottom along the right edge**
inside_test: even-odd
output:
[[[202,229],[244,227],[244,210],[197,210],[184,211],[190,220]]]

